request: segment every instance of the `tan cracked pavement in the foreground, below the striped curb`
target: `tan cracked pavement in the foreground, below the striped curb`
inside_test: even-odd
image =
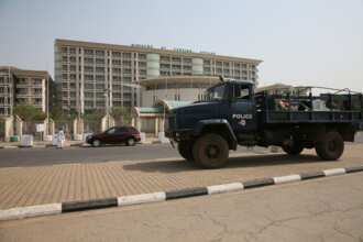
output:
[[[362,241],[363,174],[0,223],[0,241]]]

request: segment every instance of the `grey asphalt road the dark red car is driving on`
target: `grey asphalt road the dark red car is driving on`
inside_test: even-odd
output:
[[[240,147],[239,151],[246,151]],[[256,153],[266,153],[256,148]],[[136,146],[3,148],[0,150],[0,167],[43,166],[66,163],[95,163],[109,161],[135,161],[179,157],[169,144],[144,144]]]

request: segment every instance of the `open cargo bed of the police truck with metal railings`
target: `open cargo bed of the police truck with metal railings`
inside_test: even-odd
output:
[[[363,125],[363,95],[349,89],[289,87],[257,92],[255,102],[257,113],[265,123]]]

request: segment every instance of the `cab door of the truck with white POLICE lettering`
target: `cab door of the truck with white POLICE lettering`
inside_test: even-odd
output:
[[[237,136],[256,131],[253,86],[234,84],[231,86],[229,122]]]

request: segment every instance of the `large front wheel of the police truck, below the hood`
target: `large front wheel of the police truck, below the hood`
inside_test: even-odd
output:
[[[207,133],[193,145],[193,157],[202,168],[220,168],[228,162],[229,146],[219,134]]]

